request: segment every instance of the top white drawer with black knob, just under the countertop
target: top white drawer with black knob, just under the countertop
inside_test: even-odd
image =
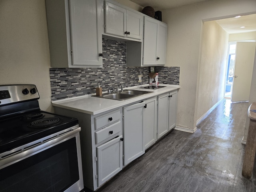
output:
[[[95,130],[108,126],[113,122],[120,120],[120,110],[112,111],[107,114],[94,118]]]

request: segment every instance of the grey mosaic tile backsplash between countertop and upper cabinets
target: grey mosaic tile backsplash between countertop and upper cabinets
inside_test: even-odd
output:
[[[142,84],[148,84],[148,67],[126,66],[126,43],[102,39],[103,68],[50,68],[52,100],[71,98],[96,92],[98,83],[102,91],[140,85],[138,75],[142,74]],[[158,82],[179,84],[180,67],[155,67],[159,73]]]

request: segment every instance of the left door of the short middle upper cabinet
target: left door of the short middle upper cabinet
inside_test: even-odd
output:
[[[105,33],[126,36],[126,9],[105,1]]]

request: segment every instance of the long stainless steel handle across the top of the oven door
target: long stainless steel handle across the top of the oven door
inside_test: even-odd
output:
[[[0,164],[1,164],[0,169],[10,166],[34,154],[42,152],[50,147],[53,147],[70,138],[73,138],[74,136],[79,137],[79,142],[80,142],[80,135],[79,135],[80,130],[81,128],[78,127],[76,129],[71,129],[66,132],[63,132],[63,131],[57,132],[50,136],[41,138],[34,142],[15,148],[14,150],[4,152],[0,154]]]

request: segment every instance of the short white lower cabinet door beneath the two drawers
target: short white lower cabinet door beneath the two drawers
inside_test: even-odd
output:
[[[122,170],[122,136],[97,147],[98,187]]]

